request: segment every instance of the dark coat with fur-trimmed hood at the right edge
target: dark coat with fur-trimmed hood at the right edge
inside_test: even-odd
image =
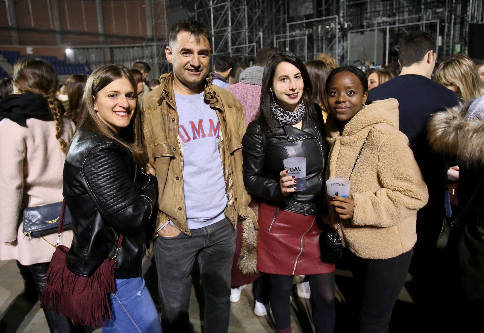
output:
[[[428,139],[432,148],[457,159],[459,220],[457,259],[460,284],[467,300],[484,300],[484,97],[432,116]],[[479,186],[479,187],[478,187]],[[475,193],[475,195],[474,195]],[[474,197],[472,198],[472,195]],[[472,200],[471,200],[472,198]],[[466,209],[467,204],[469,206]]]

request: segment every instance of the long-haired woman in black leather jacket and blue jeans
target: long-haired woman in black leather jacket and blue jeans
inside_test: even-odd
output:
[[[106,258],[116,260],[112,320],[104,323],[103,332],[161,333],[141,277],[158,188],[154,175],[144,174],[139,167],[143,165],[140,113],[131,72],[121,65],[95,70],[80,112],[64,165],[63,194],[74,232],[67,268],[76,275],[91,276]]]

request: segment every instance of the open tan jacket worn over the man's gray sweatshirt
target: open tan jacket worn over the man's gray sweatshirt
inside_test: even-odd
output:
[[[220,121],[219,152],[227,191],[225,216],[234,227],[239,217],[257,225],[254,212],[248,208],[251,198],[242,178],[242,136],[246,129],[242,105],[227,90],[212,85],[211,79],[206,81],[204,98],[217,112]],[[183,148],[178,137],[173,72],[166,74],[164,85],[143,97],[143,104],[143,134],[159,188],[155,230],[171,220],[181,232],[190,235],[185,216]]]

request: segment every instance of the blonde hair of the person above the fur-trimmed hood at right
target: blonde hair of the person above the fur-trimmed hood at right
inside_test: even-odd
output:
[[[459,88],[464,101],[470,102],[484,95],[484,86],[473,61],[464,54],[444,59],[435,72],[435,82]]]

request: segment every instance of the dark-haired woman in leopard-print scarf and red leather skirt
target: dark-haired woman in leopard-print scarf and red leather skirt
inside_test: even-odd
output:
[[[260,199],[257,270],[270,274],[272,314],[283,333],[292,332],[294,275],[308,276],[316,332],[334,332],[334,264],[323,262],[319,249],[325,138],[304,64],[289,52],[274,55],[264,70],[259,117],[243,137],[243,177]],[[306,158],[304,190],[296,191],[297,181],[284,170],[283,159],[291,157]]]

